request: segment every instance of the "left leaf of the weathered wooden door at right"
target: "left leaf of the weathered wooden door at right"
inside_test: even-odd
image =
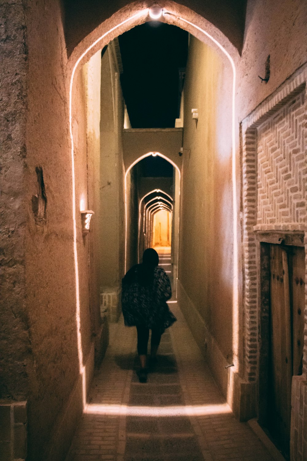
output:
[[[280,245],[270,245],[270,301],[268,429],[287,453],[290,439],[292,335],[288,256]]]

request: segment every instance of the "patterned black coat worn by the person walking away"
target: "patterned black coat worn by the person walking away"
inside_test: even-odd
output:
[[[122,279],[122,313],[125,325],[144,325],[163,332],[176,318],[166,301],[172,296],[169,278],[161,267],[154,268],[153,280],[148,285],[139,283],[142,264],[133,266]]]

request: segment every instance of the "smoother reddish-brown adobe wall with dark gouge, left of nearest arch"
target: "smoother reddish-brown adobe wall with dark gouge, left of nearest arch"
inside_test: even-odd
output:
[[[25,302],[35,359],[35,372],[30,376],[28,450],[29,458],[36,460],[44,457],[57,415],[79,375],[79,363],[61,10],[57,2],[44,1],[39,5],[29,2],[26,15],[29,95]],[[33,197],[40,195],[36,167],[42,168],[46,192],[46,216],[41,221],[35,220],[32,208]],[[79,242],[79,246],[83,246],[83,242]],[[81,260],[79,264],[82,269]],[[88,299],[88,282],[81,287],[81,296],[85,290]],[[87,320],[84,322],[82,328],[88,329]]]

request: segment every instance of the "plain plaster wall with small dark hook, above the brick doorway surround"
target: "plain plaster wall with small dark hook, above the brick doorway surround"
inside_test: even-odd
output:
[[[240,122],[307,61],[307,3],[304,0],[249,0],[242,59],[237,63]],[[270,55],[271,75],[261,83]]]

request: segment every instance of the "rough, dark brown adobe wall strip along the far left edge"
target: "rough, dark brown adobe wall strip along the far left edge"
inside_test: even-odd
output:
[[[20,400],[28,396],[33,372],[24,304],[28,50],[22,2],[1,2],[0,53],[0,398]]]

